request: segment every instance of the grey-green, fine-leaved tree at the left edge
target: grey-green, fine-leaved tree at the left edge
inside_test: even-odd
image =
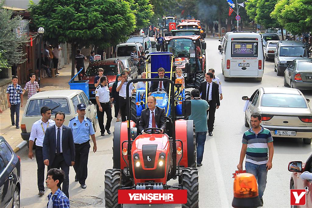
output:
[[[27,35],[17,36],[22,17],[12,18],[13,11],[3,9],[4,1],[0,0],[0,68],[26,61],[23,45],[29,42]]]

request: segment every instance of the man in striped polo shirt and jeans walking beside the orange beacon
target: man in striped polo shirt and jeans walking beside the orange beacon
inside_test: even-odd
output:
[[[266,188],[266,176],[268,170],[272,168],[274,153],[273,138],[270,130],[260,125],[261,114],[251,114],[250,123],[252,127],[245,131],[243,135],[243,145],[241,147],[241,156],[237,169],[242,169],[246,155],[246,172],[256,177],[258,181],[259,198],[261,200],[261,206],[263,206],[262,196]]]

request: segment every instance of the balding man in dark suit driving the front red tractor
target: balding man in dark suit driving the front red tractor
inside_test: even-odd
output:
[[[146,134],[143,130],[146,128],[161,128],[162,132],[166,129],[165,109],[156,106],[156,98],[149,96],[147,98],[147,109],[142,110],[139,122],[139,132]]]

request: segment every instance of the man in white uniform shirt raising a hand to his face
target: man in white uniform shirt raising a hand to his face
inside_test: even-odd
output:
[[[121,81],[118,82],[116,91],[119,92],[119,109],[121,112],[121,120],[126,121],[127,114],[127,104],[129,104],[129,99],[127,100],[126,90],[127,90],[127,74],[125,72],[121,73]],[[129,97],[132,93],[135,93],[135,88],[133,82],[129,85]]]

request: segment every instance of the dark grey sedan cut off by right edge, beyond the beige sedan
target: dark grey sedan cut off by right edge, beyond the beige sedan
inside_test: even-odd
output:
[[[284,86],[312,89],[312,58],[293,60],[285,70]]]

